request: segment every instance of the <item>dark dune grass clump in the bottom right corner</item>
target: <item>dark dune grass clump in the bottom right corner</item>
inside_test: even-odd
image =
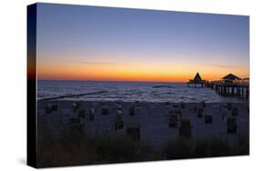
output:
[[[165,159],[249,155],[249,136],[239,136],[235,144],[229,144],[220,137],[193,140],[178,137],[169,141],[162,154]]]

